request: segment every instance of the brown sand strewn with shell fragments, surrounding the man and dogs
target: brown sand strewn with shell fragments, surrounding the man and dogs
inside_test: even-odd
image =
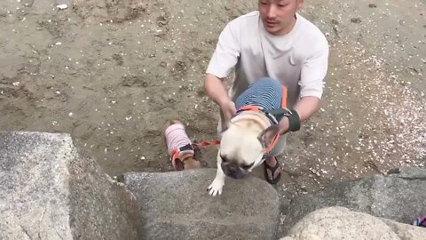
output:
[[[0,130],[69,132],[112,176],[171,171],[167,119],[217,137],[204,71],[225,23],[256,1],[61,2],[0,3]],[[289,136],[280,194],[424,167],[426,1],[305,1],[301,13],[330,64],[318,114]],[[201,150],[204,167],[216,152]]]

